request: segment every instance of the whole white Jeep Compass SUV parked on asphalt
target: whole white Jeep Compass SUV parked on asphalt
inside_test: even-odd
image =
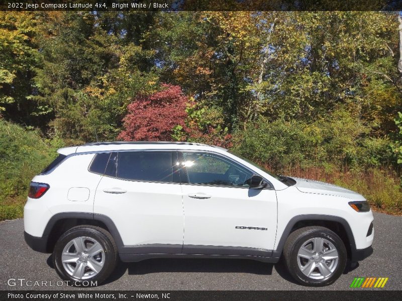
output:
[[[155,257],[283,256],[299,283],[323,286],[372,253],[361,195],[276,176],[227,149],[186,142],[96,142],[58,150],[31,183],[25,240],[53,252],[61,278],[100,284]],[[77,282],[78,281],[78,282]]]

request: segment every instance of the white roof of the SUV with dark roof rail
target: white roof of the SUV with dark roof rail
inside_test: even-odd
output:
[[[59,148],[57,153],[70,155],[74,153],[103,152],[112,150],[130,149],[191,149],[191,150],[220,150],[226,148],[196,142],[169,142],[169,141],[112,141],[90,142],[82,145]]]

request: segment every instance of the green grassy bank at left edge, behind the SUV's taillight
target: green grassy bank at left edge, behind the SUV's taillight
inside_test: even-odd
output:
[[[36,131],[0,119],[0,220],[22,216],[31,179],[55,155]]]

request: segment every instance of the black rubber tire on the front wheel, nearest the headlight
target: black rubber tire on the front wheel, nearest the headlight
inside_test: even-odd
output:
[[[298,258],[297,253],[302,247],[302,245],[309,241],[309,239],[312,238],[324,238],[330,243],[335,246],[337,252],[338,252],[338,261],[337,265],[334,263],[334,270],[332,274],[327,276],[326,278],[323,279],[313,279],[312,277],[306,276],[302,270],[299,267],[302,265],[302,267],[307,266],[309,263],[309,259],[304,259],[304,258]],[[313,244],[313,242],[312,242]],[[347,251],[345,248],[345,245],[342,241],[342,239],[335,234],[333,231],[331,231],[328,228],[321,227],[321,226],[312,226],[312,227],[304,227],[297,229],[290,233],[289,237],[287,238],[285,245],[283,247],[283,257],[285,261],[285,265],[289,271],[289,273],[292,275],[292,277],[299,282],[300,284],[303,285],[308,285],[308,286],[325,286],[325,285],[330,285],[334,283],[343,273],[345,270],[346,266],[346,261],[347,261]],[[313,257],[312,257],[313,258]],[[320,273],[318,269],[313,266],[315,264],[315,259],[313,260],[311,258],[311,267],[314,268],[312,271],[313,274],[318,274]],[[300,261],[299,261],[300,260]],[[318,258],[317,258],[318,260]],[[334,261],[335,262],[335,261]],[[325,262],[323,262],[325,263]],[[304,265],[306,264],[306,265]],[[320,262],[318,263],[320,265]],[[328,263],[330,264],[330,263]],[[336,266],[336,267],[335,267]],[[322,266],[320,266],[322,267]],[[324,276],[323,276],[324,277]]]

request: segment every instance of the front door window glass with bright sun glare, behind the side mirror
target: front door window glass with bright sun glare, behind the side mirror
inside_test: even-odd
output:
[[[209,153],[183,153],[183,162],[189,184],[248,187],[253,175],[242,166]]]

